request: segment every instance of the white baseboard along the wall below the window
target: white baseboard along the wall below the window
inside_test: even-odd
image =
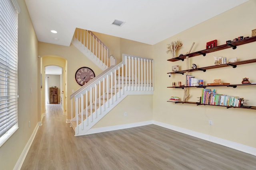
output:
[[[21,166],[22,166],[22,164],[23,164],[23,162],[24,162],[24,160],[25,160],[25,158],[26,158],[26,156],[28,154],[28,150],[30,149],[30,146],[32,145],[32,142],[34,141],[34,138],[36,136],[36,133],[37,133],[37,130],[38,130],[38,127],[39,127],[40,123],[41,122],[37,123],[37,125],[36,125],[36,127],[35,127],[35,129],[34,129],[34,131],[32,133],[32,135],[31,135],[31,137],[29,138],[26,146],[24,147],[22,153],[20,154],[20,157],[19,157],[18,161],[16,162],[16,164],[15,164],[15,166],[13,168],[14,170],[20,170],[20,168],[21,168]]]

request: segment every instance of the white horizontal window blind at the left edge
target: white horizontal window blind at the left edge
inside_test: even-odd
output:
[[[18,129],[18,12],[0,0],[0,146]]]

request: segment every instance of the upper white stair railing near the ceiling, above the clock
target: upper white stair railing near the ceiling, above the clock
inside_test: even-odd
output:
[[[72,44],[102,70],[116,65],[116,60],[109,55],[108,47],[92,32],[76,28]]]

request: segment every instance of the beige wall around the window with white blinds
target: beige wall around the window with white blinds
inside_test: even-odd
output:
[[[14,168],[36,124],[40,121],[40,76],[38,76],[38,41],[24,0],[18,0],[18,126],[19,129],[0,147],[0,165],[3,170]],[[32,88],[32,93],[30,92]],[[30,128],[28,127],[30,121]]]

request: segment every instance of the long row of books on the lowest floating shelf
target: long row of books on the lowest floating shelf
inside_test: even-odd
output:
[[[201,104],[240,107],[244,98],[217,94],[215,89],[202,89]]]

